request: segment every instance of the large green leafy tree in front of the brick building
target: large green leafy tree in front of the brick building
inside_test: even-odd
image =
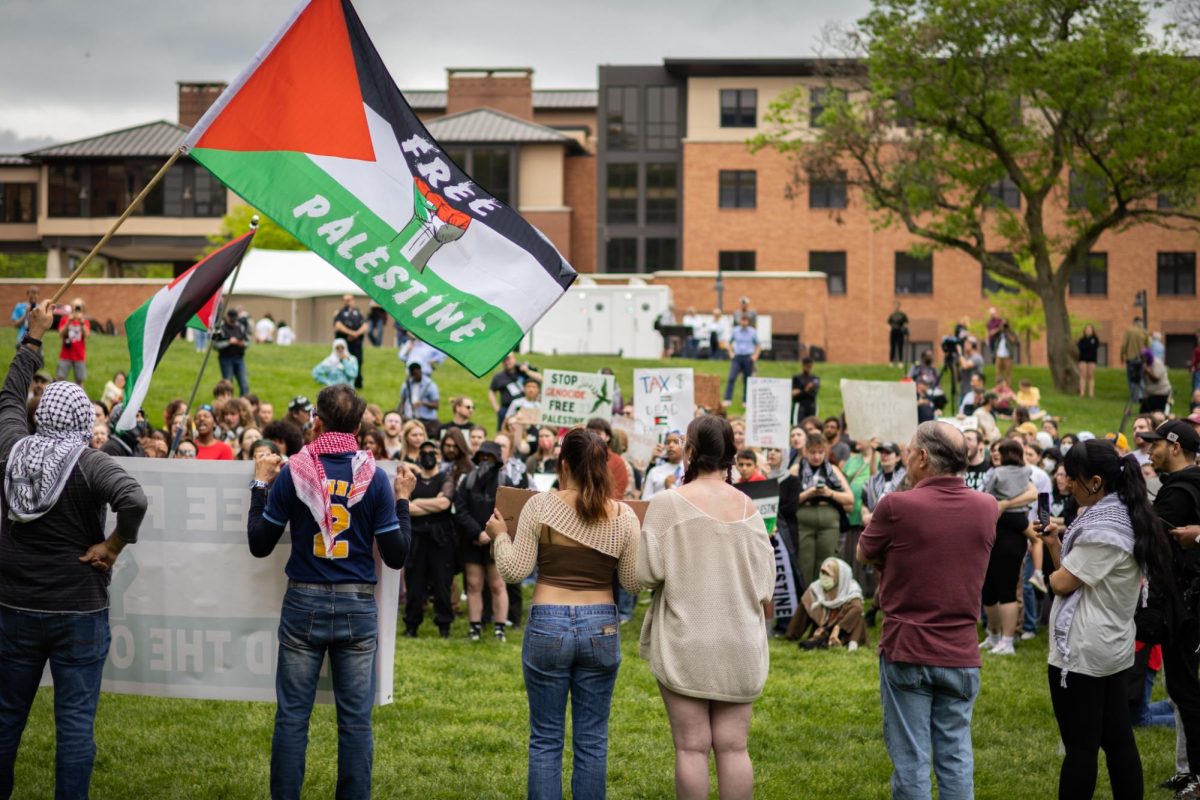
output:
[[[1152,36],[1154,7],[872,0],[836,42],[852,58],[827,62],[844,91],[826,94],[820,127],[798,86],[751,148],[792,156],[794,181],[844,170],[878,224],[1036,294],[1054,383],[1069,391],[1072,272],[1106,233],[1200,222],[1200,61]]]

